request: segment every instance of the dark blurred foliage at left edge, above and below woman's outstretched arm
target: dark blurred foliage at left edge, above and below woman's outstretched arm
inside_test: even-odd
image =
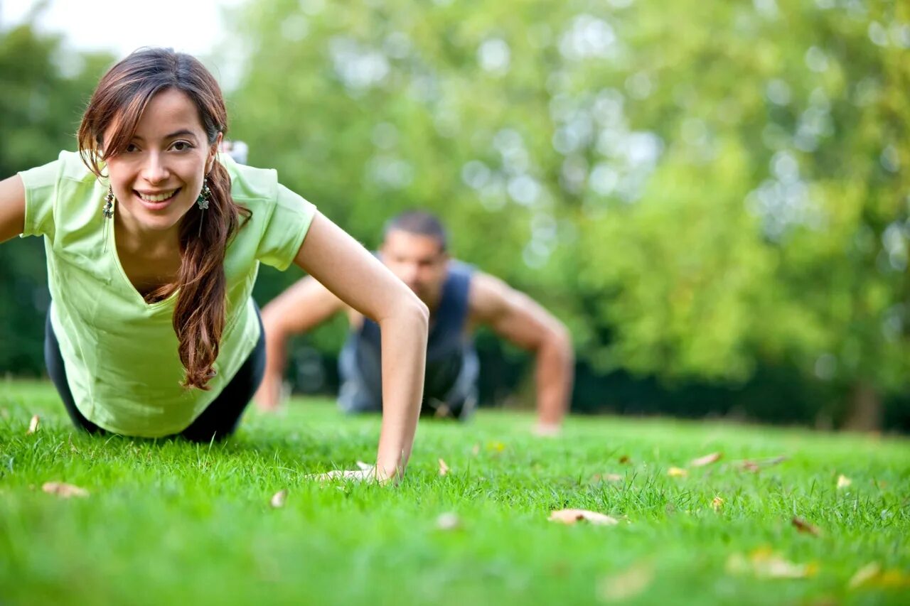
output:
[[[112,59],[66,50],[30,25],[0,31],[0,178],[76,148],[82,109]],[[40,239],[0,246],[0,284],[0,369],[38,374],[50,301]]]

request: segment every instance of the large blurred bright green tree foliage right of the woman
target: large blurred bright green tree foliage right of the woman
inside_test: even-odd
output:
[[[600,369],[904,391],[910,8],[249,3],[253,164],[369,245],[404,207]]]

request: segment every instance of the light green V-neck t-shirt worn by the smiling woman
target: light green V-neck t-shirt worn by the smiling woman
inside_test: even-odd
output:
[[[116,254],[103,185],[78,154],[19,173],[25,183],[25,236],[44,236],[51,323],[76,408],[101,428],[156,438],[179,433],[234,377],[259,338],[250,293],[259,262],[285,269],[316,207],[278,184],[274,170],[218,160],[231,196],[252,211],[227,247],[227,317],[210,389],[185,389],[171,324],[177,294],[147,304]],[[116,212],[116,209],[115,209]],[[192,210],[190,211],[192,212]]]

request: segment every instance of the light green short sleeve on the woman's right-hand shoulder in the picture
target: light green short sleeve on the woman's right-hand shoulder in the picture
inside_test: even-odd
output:
[[[297,257],[315,216],[315,206],[278,184],[275,208],[259,240],[256,257],[266,265],[287,269]]]

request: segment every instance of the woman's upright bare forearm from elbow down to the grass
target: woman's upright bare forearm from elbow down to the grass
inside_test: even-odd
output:
[[[379,321],[382,334],[382,429],[379,480],[399,477],[410,458],[427,358],[429,312],[416,297]]]

